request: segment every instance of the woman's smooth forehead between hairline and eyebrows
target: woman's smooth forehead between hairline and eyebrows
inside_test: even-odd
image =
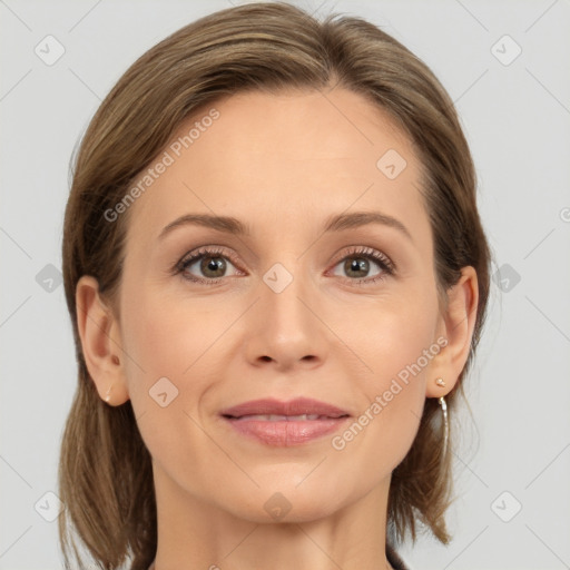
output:
[[[159,163],[167,166],[131,206],[129,234],[156,237],[193,212],[255,228],[262,212],[291,227],[350,207],[425,229],[411,141],[387,112],[345,89],[220,99],[180,125],[150,168]]]

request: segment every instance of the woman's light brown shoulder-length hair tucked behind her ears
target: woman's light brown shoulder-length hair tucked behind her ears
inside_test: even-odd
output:
[[[105,212],[124,198],[180,124],[203,106],[244,91],[337,86],[387,112],[417,153],[441,298],[458,283],[462,267],[476,271],[479,303],[470,352],[446,396],[453,417],[483,327],[491,255],[476,207],[474,166],[453,101],[424,62],[361,18],[331,14],[318,21],[284,2],[206,16],[157,43],[122,75],[73,156],[62,269],[78,385],[58,472],[66,505],[58,521],[66,568],[71,547],[80,560],[73,532],[101,569],[130,560],[132,570],[146,570],[157,548],[150,454],[130,401],[109,406],[99,397],[78,333],[79,278],[96,277],[110,303],[120,286],[129,212],[114,223]],[[387,531],[394,541],[410,534],[415,542],[419,523],[442,543],[451,539],[444,513],[453,500],[452,464],[451,453],[443,453],[439,407],[436,399],[426,399],[413,444],[392,473]]]

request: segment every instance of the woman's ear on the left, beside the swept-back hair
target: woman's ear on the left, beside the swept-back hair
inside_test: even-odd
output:
[[[83,275],[76,287],[76,309],[81,347],[89,375],[101,400],[109,405],[128,399],[120,330],[112,311],[99,295],[99,284]]]

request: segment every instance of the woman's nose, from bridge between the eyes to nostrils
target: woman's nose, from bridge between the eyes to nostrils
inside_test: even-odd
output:
[[[318,292],[311,279],[292,273],[277,264],[259,284],[246,335],[246,356],[256,366],[284,372],[317,367],[326,360],[331,343]]]

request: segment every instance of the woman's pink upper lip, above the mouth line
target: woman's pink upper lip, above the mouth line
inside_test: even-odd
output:
[[[222,415],[232,417],[242,417],[244,415],[303,415],[303,414],[318,414],[328,417],[341,417],[350,415],[345,410],[341,410],[335,405],[312,400],[308,397],[296,397],[288,402],[281,402],[279,400],[266,397],[262,400],[252,400],[244,402],[226,410],[222,410]]]

